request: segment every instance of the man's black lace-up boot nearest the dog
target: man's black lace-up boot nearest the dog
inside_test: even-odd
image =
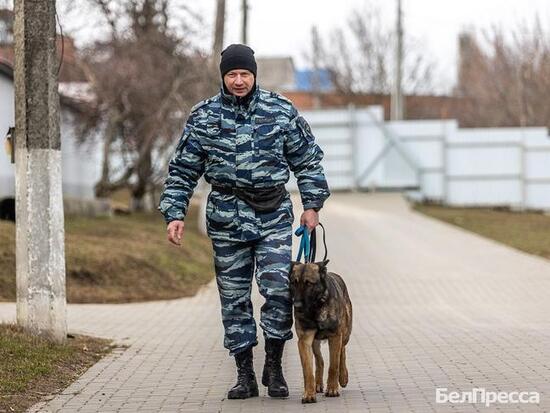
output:
[[[284,347],[284,340],[265,339],[265,364],[262,384],[267,386],[267,394],[271,397],[288,397],[288,386],[283,377],[283,366],[281,365]]]

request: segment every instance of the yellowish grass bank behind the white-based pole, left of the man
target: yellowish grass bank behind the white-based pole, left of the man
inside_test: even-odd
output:
[[[166,239],[160,213],[67,217],[67,299],[119,303],[191,296],[214,276],[212,246],[198,208],[185,220],[182,247]],[[0,221],[0,300],[15,300],[15,224]]]

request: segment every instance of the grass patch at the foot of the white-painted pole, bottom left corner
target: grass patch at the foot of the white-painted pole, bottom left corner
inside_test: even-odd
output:
[[[111,349],[109,341],[85,336],[52,344],[0,324],[0,412],[24,412],[60,392]]]

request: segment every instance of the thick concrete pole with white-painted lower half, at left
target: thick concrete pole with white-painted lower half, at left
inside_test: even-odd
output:
[[[67,337],[55,0],[15,1],[17,323]]]

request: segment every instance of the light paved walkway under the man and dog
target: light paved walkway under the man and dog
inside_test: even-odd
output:
[[[396,194],[336,194],[322,220],[330,268],[354,305],[350,384],[340,398],[300,403],[293,340],[284,360],[289,399],[262,389],[259,398],[226,400],[235,373],[210,284],[191,299],[69,306],[70,330],[130,347],[33,411],[550,411],[550,261],[411,212]],[[0,318],[14,312],[0,305]],[[438,387],[538,391],[541,403],[436,404]]]

